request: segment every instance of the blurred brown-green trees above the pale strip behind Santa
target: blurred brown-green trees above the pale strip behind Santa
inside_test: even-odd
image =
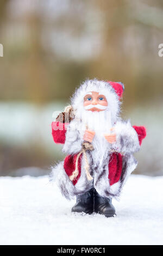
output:
[[[10,0],[1,7],[2,100],[68,100],[86,77],[124,82],[126,106],[163,94],[161,1]]]

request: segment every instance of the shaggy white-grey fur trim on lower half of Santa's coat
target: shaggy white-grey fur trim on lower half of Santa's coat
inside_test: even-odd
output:
[[[74,196],[78,194],[85,193],[89,191],[92,187],[95,187],[97,192],[102,197],[109,197],[109,198],[118,198],[120,196],[121,190],[123,185],[126,183],[129,175],[137,166],[137,161],[135,158],[130,154],[125,154],[123,156],[123,164],[122,164],[122,174],[120,180],[116,182],[114,185],[110,186],[109,183],[109,168],[108,163],[109,159],[105,161],[103,168],[96,168],[92,164],[91,153],[87,154],[87,159],[90,163],[90,173],[93,176],[93,181],[89,181],[86,178],[85,173],[85,162],[84,157],[82,157],[82,166],[81,166],[81,175],[78,179],[76,185],[73,185],[73,182],[70,180],[68,175],[64,169],[64,161],[57,164],[51,174],[50,174],[50,181],[54,182],[57,177],[57,184],[60,188],[62,196],[67,199],[72,199]]]

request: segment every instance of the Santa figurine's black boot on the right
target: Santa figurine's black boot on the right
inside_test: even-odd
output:
[[[103,214],[105,217],[113,217],[115,215],[115,208],[112,205],[111,198],[101,197],[95,190],[95,212]]]

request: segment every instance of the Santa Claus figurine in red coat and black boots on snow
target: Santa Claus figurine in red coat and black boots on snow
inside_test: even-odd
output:
[[[114,216],[112,198],[137,166],[133,153],[146,129],[120,118],[123,90],[121,82],[86,80],[52,123],[54,142],[64,144],[67,156],[53,168],[51,181],[59,173],[62,195],[76,196],[72,212]]]

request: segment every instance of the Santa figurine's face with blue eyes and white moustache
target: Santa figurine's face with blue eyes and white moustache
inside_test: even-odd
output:
[[[90,92],[84,97],[84,108],[89,111],[104,111],[108,106],[106,97],[97,92]]]

